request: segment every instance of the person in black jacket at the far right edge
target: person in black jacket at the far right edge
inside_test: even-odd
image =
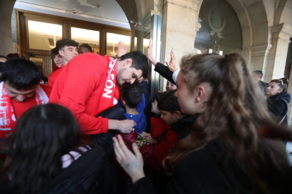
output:
[[[279,124],[288,124],[288,103],[291,95],[287,92],[287,78],[273,79],[267,86],[267,107]]]

